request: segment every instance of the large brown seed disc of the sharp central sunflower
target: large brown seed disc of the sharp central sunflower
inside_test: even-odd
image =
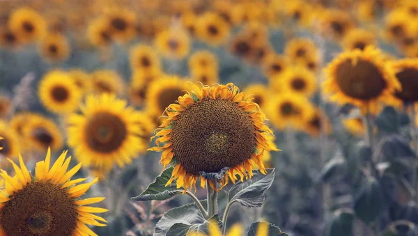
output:
[[[248,114],[230,100],[204,99],[173,124],[171,141],[187,173],[214,173],[251,157],[256,147]]]

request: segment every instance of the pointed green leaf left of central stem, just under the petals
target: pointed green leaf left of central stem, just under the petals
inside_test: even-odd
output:
[[[169,167],[165,169],[161,175],[155,178],[155,181],[152,182],[148,187],[145,189],[142,194],[131,198],[132,200],[166,200],[175,196],[176,194],[180,194],[183,192],[183,188],[178,189],[176,184],[170,184],[169,186],[165,186],[167,181],[171,178],[171,173],[173,173],[173,167]]]

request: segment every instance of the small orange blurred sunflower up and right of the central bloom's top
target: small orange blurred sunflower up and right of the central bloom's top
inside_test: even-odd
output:
[[[263,61],[261,69],[263,74],[268,79],[279,76],[283,73],[288,66],[291,65],[291,60],[287,56],[281,56],[277,54],[271,54]]]

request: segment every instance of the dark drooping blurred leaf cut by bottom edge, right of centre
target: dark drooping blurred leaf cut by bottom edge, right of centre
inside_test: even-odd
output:
[[[324,236],[352,236],[354,213],[351,209],[339,209],[325,227]]]

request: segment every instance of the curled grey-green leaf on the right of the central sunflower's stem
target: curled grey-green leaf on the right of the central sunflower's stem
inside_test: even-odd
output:
[[[254,172],[254,176],[244,182],[230,183],[224,187],[229,202],[238,202],[245,207],[261,207],[264,193],[272,186],[274,169],[268,169],[268,174]]]

